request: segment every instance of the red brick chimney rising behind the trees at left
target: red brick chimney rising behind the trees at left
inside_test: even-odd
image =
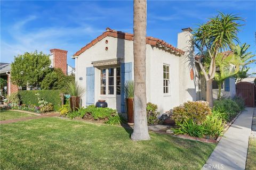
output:
[[[53,54],[52,66],[60,68],[64,74],[67,74],[67,53],[68,51],[62,49],[50,49]]]

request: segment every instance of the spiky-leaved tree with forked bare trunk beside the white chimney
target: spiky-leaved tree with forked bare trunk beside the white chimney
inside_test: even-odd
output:
[[[216,57],[219,53],[228,50],[233,41],[239,42],[237,33],[241,24],[238,21],[241,20],[243,19],[236,15],[220,12],[194,31],[194,43],[200,53],[198,64],[206,80],[206,101],[209,102],[210,107],[213,107],[212,81],[216,72]],[[205,51],[211,58],[208,71],[201,61]]]

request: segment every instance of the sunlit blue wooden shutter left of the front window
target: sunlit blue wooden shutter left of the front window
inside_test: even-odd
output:
[[[86,106],[94,105],[94,67],[86,67]]]

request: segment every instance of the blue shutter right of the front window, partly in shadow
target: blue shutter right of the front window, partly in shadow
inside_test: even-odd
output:
[[[124,98],[124,84],[126,81],[132,80],[132,62],[121,64],[121,111],[126,112]]]

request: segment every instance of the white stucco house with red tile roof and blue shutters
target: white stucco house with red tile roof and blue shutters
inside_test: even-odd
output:
[[[157,104],[161,113],[188,100],[204,99],[190,32],[186,28],[178,33],[177,48],[164,40],[146,38],[147,102]],[[86,89],[82,105],[105,99],[108,107],[125,113],[124,83],[134,79],[133,35],[107,28],[73,58],[76,81]],[[228,95],[232,95],[228,89],[230,82],[226,83],[226,89],[223,87]]]

